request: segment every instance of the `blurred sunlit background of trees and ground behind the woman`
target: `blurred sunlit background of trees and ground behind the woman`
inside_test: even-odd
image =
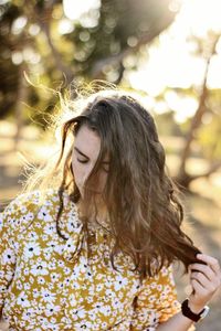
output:
[[[143,95],[187,232],[221,260],[220,36],[220,0],[0,0],[0,209],[21,190],[24,158],[49,156],[53,90],[105,79]],[[197,330],[220,330],[220,301]]]

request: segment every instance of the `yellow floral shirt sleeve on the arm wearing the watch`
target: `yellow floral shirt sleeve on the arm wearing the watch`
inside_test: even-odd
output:
[[[172,266],[162,267],[158,275],[143,280],[135,305],[131,331],[154,331],[180,311]],[[194,328],[189,329],[193,331]]]

